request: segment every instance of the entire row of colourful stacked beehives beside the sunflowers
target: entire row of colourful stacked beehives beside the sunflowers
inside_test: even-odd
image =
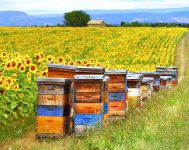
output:
[[[139,110],[152,92],[177,84],[177,67],[128,73],[102,67],[48,65],[38,81],[37,137],[59,137],[108,125]]]

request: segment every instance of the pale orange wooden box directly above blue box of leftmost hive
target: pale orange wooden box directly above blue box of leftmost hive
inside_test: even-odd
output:
[[[71,103],[71,96],[71,94],[38,95],[38,105],[69,105]]]

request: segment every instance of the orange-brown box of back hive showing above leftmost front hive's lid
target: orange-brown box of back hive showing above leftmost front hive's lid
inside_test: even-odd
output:
[[[75,75],[72,71],[60,71],[60,70],[49,70],[48,77],[53,78],[73,78]]]

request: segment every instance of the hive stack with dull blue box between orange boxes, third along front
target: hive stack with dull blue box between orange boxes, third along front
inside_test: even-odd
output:
[[[126,116],[126,95],[127,95],[127,70],[106,70],[110,80],[109,90],[109,117]]]

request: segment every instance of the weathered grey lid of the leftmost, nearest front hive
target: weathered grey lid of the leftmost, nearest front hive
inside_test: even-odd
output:
[[[69,78],[37,78],[37,82],[72,83]]]

